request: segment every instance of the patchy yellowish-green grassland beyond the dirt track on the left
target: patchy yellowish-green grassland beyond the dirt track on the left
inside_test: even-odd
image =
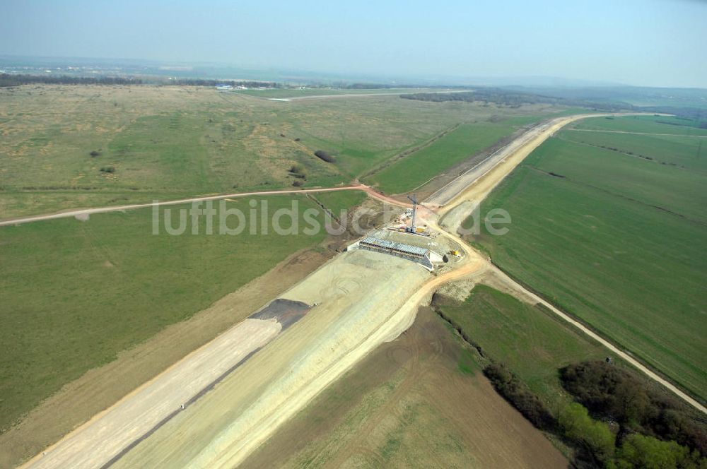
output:
[[[457,124],[561,111],[396,95],[278,102],[150,85],[25,85],[1,89],[0,100],[0,218],[335,186]]]

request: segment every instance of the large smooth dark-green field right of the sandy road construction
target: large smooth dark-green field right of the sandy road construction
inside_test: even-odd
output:
[[[643,120],[597,118],[579,125],[653,132],[646,138],[667,138],[671,148],[685,148],[670,155],[655,149],[654,160],[646,160],[637,155],[648,144],[632,146],[636,134],[592,132],[590,145],[580,142],[590,132],[564,130],[485,202],[508,210],[510,232],[494,237],[484,230],[469,240],[515,278],[704,401],[707,227],[699,207],[707,203],[700,190],[707,174],[691,169],[702,165],[701,153],[691,155],[694,137],[658,136],[674,125],[648,119],[642,126]],[[676,165],[660,162],[681,158]]]

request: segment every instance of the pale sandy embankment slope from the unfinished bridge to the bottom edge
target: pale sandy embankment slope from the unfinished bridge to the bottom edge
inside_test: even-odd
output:
[[[115,467],[238,465],[327,384],[409,327],[430,279],[438,280],[385,254],[337,256],[283,295],[317,307]]]

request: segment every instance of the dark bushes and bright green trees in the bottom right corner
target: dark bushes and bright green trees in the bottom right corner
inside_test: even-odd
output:
[[[560,373],[578,402],[555,417],[508,369],[496,363],[484,368],[496,391],[527,420],[575,448],[578,467],[707,467],[707,435],[670,396],[605,362],[571,364]]]

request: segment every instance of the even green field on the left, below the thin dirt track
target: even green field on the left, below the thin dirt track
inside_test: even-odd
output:
[[[267,199],[269,213],[292,198]],[[315,208],[294,198],[301,212]],[[248,215],[243,198],[238,207]],[[345,204],[346,201],[341,201]],[[177,212],[188,206],[173,206]],[[0,429],[88,369],[115,359],[170,323],[183,321],[293,252],[314,236],[199,235],[191,228],[152,235],[152,209],[0,228]],[[163,223],[162,219],[162,223]],[[228,220],[231,227],[235,220]],[[282,224],[288,225],[284,218]]]

